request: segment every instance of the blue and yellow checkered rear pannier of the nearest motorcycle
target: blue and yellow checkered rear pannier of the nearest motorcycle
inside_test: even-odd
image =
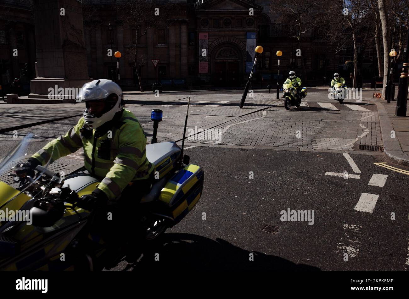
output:
[[[172,209],[175,223],[178,223],[196,205],[202,195],[203,170],[197,165],[187,165],[166,183],[159,200]]]

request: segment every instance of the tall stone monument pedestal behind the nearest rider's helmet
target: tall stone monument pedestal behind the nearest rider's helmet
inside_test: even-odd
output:
[[[81,3],[76,0],[33,3],[38,76],[30,81],[28,97],[49,98],[50,87],[75,88],[89,82]]]

